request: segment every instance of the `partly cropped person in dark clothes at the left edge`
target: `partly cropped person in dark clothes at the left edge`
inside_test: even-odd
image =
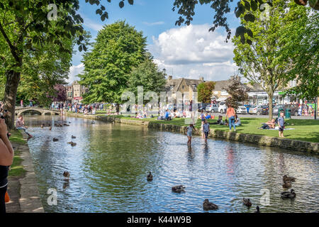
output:
[[[14,151],[7,137],[4,119],[0,118],[0,214],[6,213],[5,195],[8,187],[8,170],[12,165]]]

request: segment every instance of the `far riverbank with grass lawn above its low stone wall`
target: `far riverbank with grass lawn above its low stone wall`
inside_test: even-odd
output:
[[[174,133],[185,133],[185,128],[186,128],[186,125],[184,124],[184,119],[177,119],[177,120],[174,119],[173,121],[157,121],[155,118],[137,119],[137,118],[124,117],[124,116],[84,115],[84,114],[74,114],[74,113],[68,113],[68,112],[67,112],[67,116],[89,118],[89,119],[106,121],[106,122],[141,125],[141,126],[147,126],[148,128],[155,128],[155,129],[163,130],[163,131],[171,131]],[[213,123],[214,121],[216,120],[210,120],[211,123]],[[261,121],[261,120],[254,119],[252,121]],[[297,122],[301,121],[301,122],[297,124],[296,121]],[[300,131],[303,131],[303,128],[310,127],[310,124],[306,121],[312,121],[312,120],[292,120],[291,119],[287,122],[291,123],[290,124],[291,128],[293,127],[296,128],[294,129],[296,133],[300,133]],[[248,123],[247,119],[242,118],[242,124],[245,125],[247,123]],[[225,126],[211,125],[211,133],[208,135],[208,137],[225,139],[225,140],[235,140],[235,141],[240,141],[245,143],[254,143],[257,145],[266,145],[270,147],[284,148],[288,150],[297,150],[301,152],[318,154],[318,143],[311,142],[311,141],[318,141],[318,135],[319,135],[319,132],[317,132],[318,129],[314,129],[311,132],[312,134],[311,135],[309,134],[309,138],[311,141],[306,141],[306,140],[274,137],[278,135],[278,131],[259,130],[257,129],[258,123],[259,122],[254,122],[253,126],[250,125],[246,129],[243,129],[244,126],[240,126],[237,128],[236,132],[230,132],[229,128]],[[313,122],[313,124],[314,123],[317,123],[317,122]],[[199,128],[201,126],[200,124],[201,124],[200,121],[197,121],[196,128]],[[255,129],[253,130],[252,127],[254,126],[255,126]],[[318,126],[314,125],[313,128],[318,128]],[[249,131],[250,133],[247,133],[247,131]],[[291,131],[284,131],[284,135],[285,134],[288,135],[288,133],[291,134]],[[257,133],[259,133],[259,135]],[[261,133],[272,133],[274,136],[260,135]],[[200,135],[199,131],[194,133],[194,135]],[[292,138],[296,138],[296,137],[292,136]],[[298,138],[298,135],[297,135],[297,138]]]

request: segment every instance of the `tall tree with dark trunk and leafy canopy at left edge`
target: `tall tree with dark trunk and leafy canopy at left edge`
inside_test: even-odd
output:
[[[78,35],[79,48],[86,49],[82,42],[83,19],[77,14],[79,1],[55,1],[58,11],[53,20],[50,17],[52,8],[48,8],[51,3],[50,0],[5,0],[0,3],[0,34],[6,42],[5,48],[0,49],[0,56],[6,62],[4,105],[8,110],[6,123],[9,128],[13,128],[16,94],[28,51],[54,43],[60,52],[69,52],[62,38],[71,39],[75,35]]]

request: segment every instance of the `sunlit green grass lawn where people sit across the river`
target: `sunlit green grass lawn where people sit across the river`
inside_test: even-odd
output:
[[[125,116],[116,116],[118,118],[133,119],[138,121],[154,121],[157,123],[169,123],[177,126],[186,126],[184,118],[174,118],[172,121],[157,121],[156,118],[130,118]],[[272,137],[278,137],[278,131],[276,130],[262,130],[258,129],[262,126],[262,123],[268,121],[267,118],[240,118],[242,126],[236,127],[237,133],[249,133],[254,135],[267,135]],[[208,122],[213,123],[217,120],[210,119]],[[196,128],[201,127],[201,120],[196,122]],[[319,143],[319,121],[316,120],[298,120],[288,119],[286,120],[286,128],[295,128],[294,130],[284,131],[284,136],[292,140],[304,140],[308,142]],[[228,126],[211,125],[211,129],[218,129],[222,131],[229,131]]]

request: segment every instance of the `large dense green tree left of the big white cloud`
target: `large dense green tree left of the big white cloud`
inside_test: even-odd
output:
[[[93,50],[84,54],[84,74],[79,75],[79,83],[89,87],[84,101],[121,104],[121,95],[128,89],[129,74],[145,59],[145,48],[142,32],[125,21],[104,26]]]

